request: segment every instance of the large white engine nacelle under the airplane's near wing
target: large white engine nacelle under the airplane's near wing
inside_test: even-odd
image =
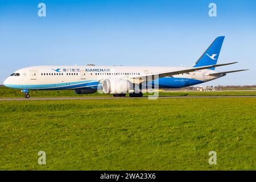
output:
[[[122,94],[129,91],[129,81],[122,78],[110,78],[102,82],[102,90],[109,94]]]

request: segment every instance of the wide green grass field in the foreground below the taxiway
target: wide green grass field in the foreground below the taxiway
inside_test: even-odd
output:
[[[255,170],[255,110],[256,98],[0,101],[0,169]]]

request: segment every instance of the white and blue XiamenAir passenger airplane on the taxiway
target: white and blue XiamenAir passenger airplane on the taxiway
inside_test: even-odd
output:
[[[25,98],[30,98],[30,90],[75,90],[77,94],[95,93],[102,89],[115,97],[142,97],[143,85],[158,88],[182,88],[201,84],[225,76],[216,67],[233,63],[217,64],[225,36],[217,37],[191,67],[139,67],[139,66],[35,66],[18,69],[3,84],[9,88],[21,89]]]

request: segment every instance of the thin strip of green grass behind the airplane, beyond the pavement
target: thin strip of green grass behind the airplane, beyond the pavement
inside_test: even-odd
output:
[[[144,94],[145,96],[148,93]],[[35,97],[113,97],[109,94],[76,94],[74,90],[46,90],[30,91],[30,96]],[[128,96],[128,94],[127,94]],[[217,91],[217,92],[160,92],[159,96],[256,96],[256,91]],[[18,89],[0,86],[0,98],[22,98],[24,94]]]

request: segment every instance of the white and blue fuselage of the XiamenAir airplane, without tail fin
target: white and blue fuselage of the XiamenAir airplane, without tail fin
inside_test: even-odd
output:
[[[36,66],[15,71],[4,85],[16,89],[81,89],[92,88],[100,84],[98,80],[106,78],[143,77],[151,73],[177,71],[191,67],[125,67],[125,66]],[[18,74],[17,74],[18,73]],[[216,73],[210,69],[182,73],[172,77],[159,78],[159,87],[180,88],[214,80],[218,77],[208,76]]]

